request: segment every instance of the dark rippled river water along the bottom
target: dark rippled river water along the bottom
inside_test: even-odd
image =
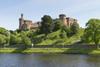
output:
[[[100,56],[0,54],[0,67],[100,67]]]

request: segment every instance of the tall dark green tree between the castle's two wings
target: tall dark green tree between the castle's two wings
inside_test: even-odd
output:
[[[40,31],[47,35],[48,33],[52,32],[52,18],[49,15],[44,15],[42,18]]]

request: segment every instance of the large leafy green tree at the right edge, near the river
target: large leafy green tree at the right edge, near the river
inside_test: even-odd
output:
[[[85,42],[93,42],[99,47],[100,42],[100,20],[99,19],[90,19],[86,24],[86,29],[84,33]]]

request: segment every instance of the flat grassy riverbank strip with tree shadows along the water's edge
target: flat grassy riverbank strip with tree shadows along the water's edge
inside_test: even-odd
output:
[[[0,48],[0,53],[59,53],[59,54],[94,54],[100,55],[100,49],[71,48]]]

